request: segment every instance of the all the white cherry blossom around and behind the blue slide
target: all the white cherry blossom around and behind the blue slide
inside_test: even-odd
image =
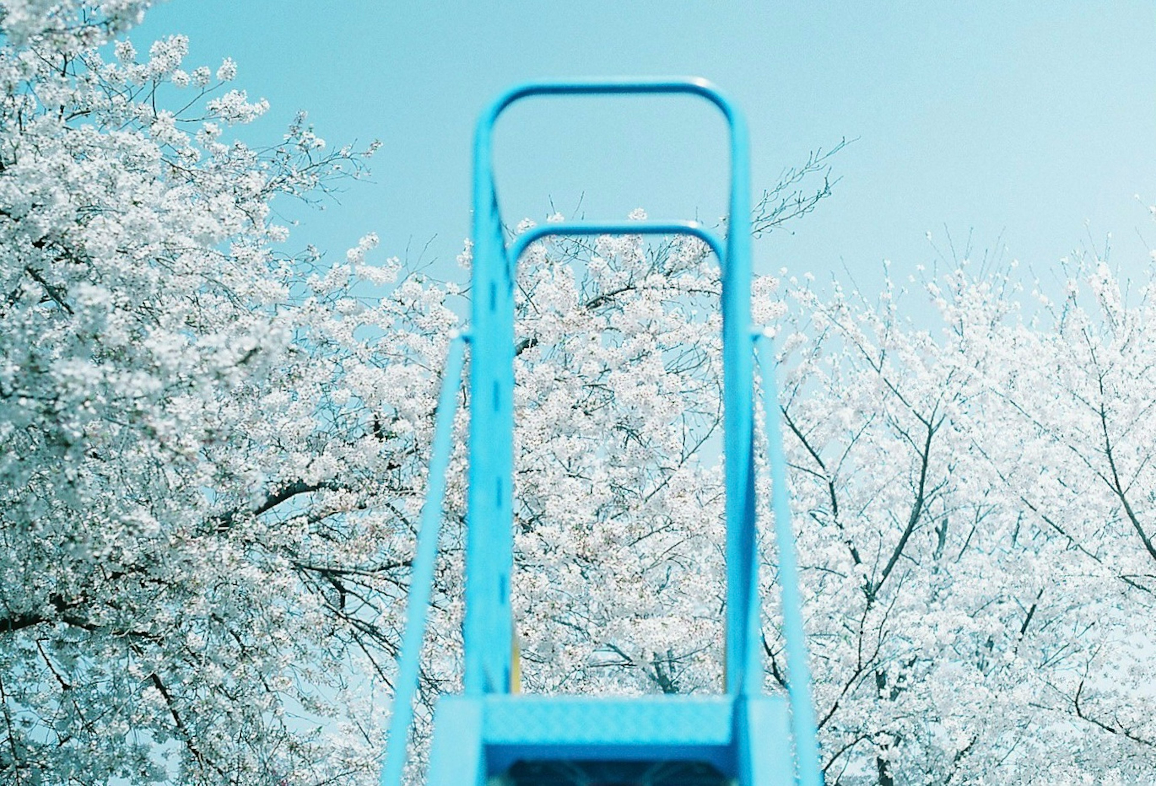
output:
[[[304,117],[268,148],[227,141],[266,104],[231,60],[185,66],[179,36],[118,39],[147,5],[2,5],[0,777],[373,783],[469,292],[371,260],[372,235],[338,262],[281,251],[272,200],[324,194],[371,150]],[[759,231],[810,212],[825,175],[823,154],[784,172]],[[1144,783],[1156,295],[1129,301],[1098,260],[1055,302],[951,267],[877,299],[755,282],[828,780]],[[913,292],[934,329],[903,317]],[[521,260],[527,690],[719,688],[718,294],[687,239]],[[423,731],[460,674],[458,444]],[[775,571],[768,544],[769,690]]]

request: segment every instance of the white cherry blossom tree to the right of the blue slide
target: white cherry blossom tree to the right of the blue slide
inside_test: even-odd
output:
[[[891,282],[795,292],[783,417],[830,783],[1156,766],[1151,289],[1129,306],[1103,264],[1068,272],[1042,305],[1011,270],[925,279],[935,333]]]

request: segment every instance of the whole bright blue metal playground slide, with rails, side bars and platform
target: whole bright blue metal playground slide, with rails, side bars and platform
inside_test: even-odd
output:
[[[501,113],[531,96],[621,94],[697,96],[722,113],[731,135],[726,237],[694,222],[562,222],[531,229],[507,247],[490,161],[494,125]],[[768,395],[772,506],[784,593],[790,702],[762,695],[747,144],[742,116],[714,87],[698,79],[523,84],[499,96],[482,114],[474,147],[465,695],[443,697],[438,703],[430,752],[431,786],[513,783],[509,777],[502,780],[502,773],[516,762],[527,759],[600,764],[699,762],[721,773],[719,777],[728,779],[727,783],[733,780],[742,786],[795,783],[818,786],[821,783],[771,354],[770,348],[763,346],[765,340],[756,335]],[[713,250],[721,265],[727,521],[726,692],[721,696],[593,698],[511,692],[514,269],[528,245],[547,236],[612,233],[695,236]],[[421,584],[428,585],[432,579],[444,488],[444,481],[435,481],[435,470],[444,474],[447,461],[449,431],[443,433],[443,420],[452,424],[452,406],[461,371],[460,342],[454,347],[458,354],[451,351],[438,407],[430,499],[423,509],[390,748],[381,777],[381,783],[388,786],[400,784],[412,720],[417,653],[424,630],[424,607],[429,602],[429,587]]]

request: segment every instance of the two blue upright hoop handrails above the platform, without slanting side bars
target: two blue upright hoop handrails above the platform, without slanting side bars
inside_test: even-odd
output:
[[[491,166],[494,125],[513,103],[532,96],[688,95],[713,104],[727,121],[731,147],[731,224],[725,242],[697,224],[655,223],[672,232],[701,237],[722,267],[722,375],[727,528],[727,625],[725,679],[728,692],[762,688],[757,620],[750,325],[750,184],[747,126],[741,112],[702,79],[592,80],[517,86],[482,113],[474,139],[473,371],[470,375],[469,529],[466,583],[466,665],[468,695],[510,689],[510,568],[512,565],[513,459],[513,280],[528,243],[570,233],[647,232],[649,222],[549,224],[526,232],[507,249]],[[757,615],[756,615],[757,616]]]

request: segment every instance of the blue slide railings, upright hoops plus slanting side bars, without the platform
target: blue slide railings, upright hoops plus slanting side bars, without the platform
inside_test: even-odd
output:
[[[724,238],[686,221],[561,222],[535,227],[506,246],[490,164],[494,125],[511,104],[531,96],[683,94],[716,105],[731,134],[729,225]],[[709,82],[698,79],[599,80],[523,84],[499,96],[483,112],[474,146],[474,265],[472,287],[472,373],[469,491],[466,543],[465,691],[481,698],[511,690],[513,625],[510,613],[512,569],[513,435],[513,284],[526,249],[550,236],[689,235],[718,257],[722,283],[724,461],[727,521],[726,694],[735,707],[762,694],[761,616],[756,543],[754,468],[754,359],[750,332],[750,203],[747,131],[742,116]],[[429,470],[399,654],[397,690],[390,724],[383,786],[400,786],[417,689],[425,610],[432,588],[440,526],[445,469],[451,452],[453,411],[466,339],[451,343],[442,380]],[[778,398],[771,343],[754,334],[762,372],[766,438],[772,482],[771,507],[779,555],[784,637],[788,670],[791,736],[795,741],[798,783],[818,786],[816,729],[810,704],[810,676],[803,640],[798,561],[791,531],[786,464],[778,429]],[[470,698],[470,700],[474,700]],[[473,711],[472,711],[473,712]],[[469,715],[474,718],[475,715]],[[461,715],[466,718],[466,715]],[[473,720],[465,727],[474,728]],[[754,726],[751,726],[754,728]],[[473,732],[470,732],[473,733]],[[479,732],[480,733],[480,732]],[[785,729],[784,729],[785,733]],[[738,732],[735,732],[738,734]],[[744,744],[781,744],[749,739]],[[475,754],[470,754],[475,755]],[[762,777],[756,778],[762,781]],[[744,786],[754,786],[746,784]]]

